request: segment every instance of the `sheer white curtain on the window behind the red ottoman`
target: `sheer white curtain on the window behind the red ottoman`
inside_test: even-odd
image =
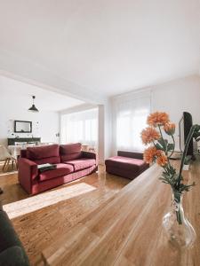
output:
[[[113,153],[118,150],[142,152],[140,132],[147,127],[150,92],[134,93],[113,101]]]

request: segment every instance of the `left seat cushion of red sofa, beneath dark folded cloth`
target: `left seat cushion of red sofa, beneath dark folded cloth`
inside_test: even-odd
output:
[[[74,168],[70,164],[59,163],[57,164],[57,168],[44,171],[39,174],[39,181],[49,180],[55,177],[66,176],[69,173],[72,173]]]

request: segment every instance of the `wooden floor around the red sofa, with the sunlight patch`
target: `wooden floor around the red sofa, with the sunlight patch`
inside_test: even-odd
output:
[[[106,174],[100,167],[99,173],[28,197],[18,183],[16,172],[4,174],[0,170],[0,187],[4,190],[0,199],[12,218],[31,265],[43,265],[41,254],[46,247],[95,209],[106,206],[129,182]]]

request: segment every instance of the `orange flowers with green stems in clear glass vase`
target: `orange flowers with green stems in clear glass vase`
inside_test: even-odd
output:
[[[199,130],[198,125],[191,127],[185,149],[181,158],[180,169],[177,172],[176,168],[171,165],[170,158],[175,148],[174,132],[175,124],[169,119],[167,113],[151,113],[148,116],[148,128],[141,132],[141,139],[144,145],[150,145],[144,152],[144,160],[148,163],[155,162],[164,168],[164,172],[160,179],[164,184],[170,184],[172,188],[172,211],[164,215],[163,226],[166,236],[174,246],[191,247],[196,240],[196,231],[191,223],[184,216],[182,207],[182,197],[184,192],[195,185],[184,184],[182,170],[186,154],[188,151],[188,144],[194,132]],[[158,131],[156,130],[158,129]],[[163,133],[172,137],[172,143],[164,139]]]

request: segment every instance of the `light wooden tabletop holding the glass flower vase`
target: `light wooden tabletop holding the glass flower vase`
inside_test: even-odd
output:
[[[179,163],[179,162],[178,162]],[[196,186],[184,195],[185,214],[196,230],[192,249],[175,246],[164,234],[163,216],[171,209],[170,186],[158,179],[154,165],[127,184],[104,207],[87,215],[71,231],[44,249],[51,266],[199,266],[200,162],[184,171]]]

